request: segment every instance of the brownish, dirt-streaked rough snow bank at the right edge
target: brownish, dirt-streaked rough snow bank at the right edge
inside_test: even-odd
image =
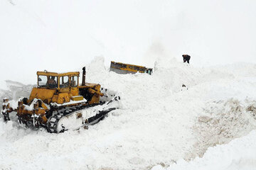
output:
[[[195,132],[198,142],[196,155],[203,156],[208,147],[230,142],[256,129],[255,101],[244,103],[234,98],[206,103],[204,114],[198,117]],[[203,149],[204,148],[204,149]]]

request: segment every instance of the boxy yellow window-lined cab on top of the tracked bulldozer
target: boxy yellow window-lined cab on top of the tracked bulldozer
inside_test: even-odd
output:
[[[78,89],[79,72],[67,72],[58,74],[55,72],[37,72],[38,88],[57,89],[66,91],[68,89]]]

